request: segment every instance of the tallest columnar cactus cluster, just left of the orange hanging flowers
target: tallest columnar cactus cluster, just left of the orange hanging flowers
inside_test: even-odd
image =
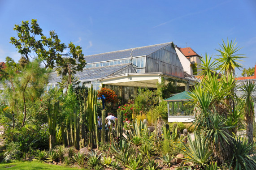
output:
[[[88,147],[93,148],[93,132],[95,130],[95,118],[94,118],[94,104],[97,103],[97,94],[98,92],[93,90],[91,85],[91,89],[88,91],[88,98],[87,98],[87,122],[88,122]],[[97,123],[98,121],[96,121]]]

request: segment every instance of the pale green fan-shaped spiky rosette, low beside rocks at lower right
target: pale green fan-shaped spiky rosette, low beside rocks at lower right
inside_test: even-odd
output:
[[[187,136],[189,147],[182,142],[184,149],[178,148],[187,157],[182,159],[193,162],[195,165],[205,167],[210,161],[213,160],[213,151],[210,150],[210,143],[207,138],[195,133],[195,140],[192,141],[190,136]]]

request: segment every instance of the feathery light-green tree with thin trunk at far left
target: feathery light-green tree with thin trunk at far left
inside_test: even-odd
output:
[[[15,110],[19,117],[18,114],[22,110],[22,127],[26,121],[28,103],[35,102],[35,99],[43,94],[44,85],[48,83],[49,72],[46,68],[41,68],[40,64],[39,59],[34,59],[18,72],[14,67],[7,67],[8,81],[4,82],[4,93],[8,96],[13,114]]]

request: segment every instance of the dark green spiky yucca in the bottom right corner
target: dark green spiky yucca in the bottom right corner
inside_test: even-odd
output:
[[[229,168],[233,170],[256,170],[256,157],[250,156],[254,144],[248,143],[246,138],[237,137],[233,141],[234,153]]]

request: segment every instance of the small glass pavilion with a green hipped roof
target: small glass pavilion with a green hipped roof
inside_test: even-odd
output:
[[[165,99],[168,106],[168,122],[191,122],[193,121],[193,107],[189,104],[188,91],[177,93]]]

